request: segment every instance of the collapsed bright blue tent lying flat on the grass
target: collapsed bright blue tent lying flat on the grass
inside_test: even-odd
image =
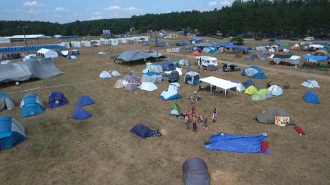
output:
[[[220,150],[239,153],[265,153],[270,154],[270,149],[267,147],[262,151],[263,140],[267,134],[262,135],[233,135],[228,133],[217,133],[209,139],[210,144],[205,148],[208,151]]]

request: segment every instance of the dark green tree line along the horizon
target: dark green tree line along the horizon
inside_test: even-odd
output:
[[[110,29],[122,34],[135,28],[148,30],[179,31],[198,29],[201,35],[223,33],[225,36],[246,37],[330,37],[330,0],[236,0],[232,6],[219,10],[197,10],[144,14],[125,19],[101,19],[50,23],[42,21],[0,21],[0,35],[21,34],[18,25],[28,25],[26,34],[63,34],[80,36],[100,35]]]

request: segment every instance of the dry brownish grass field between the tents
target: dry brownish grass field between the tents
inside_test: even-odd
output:
[[[39,42],[54,43],[56,40]],[[252,40],[245,42],[249,46],[259,44]],[[149,50],[150,47],[135,44],[81,48],[78,60],[63,57],[55,60],[58,69],[65,72],[63,75],[29,80],[19,86],[13,83],[0,85],[0,91],[10,93],[16,105],[26,93],[39,94],[47,102],[55,90],[63,92],[70,101],[58,109],[46,106],[45,113],[29,118],[21,118],[19,106],[12,111],[0,112],[17,118],[28,136],[12,149],[1,151],[1,184],[183,184],[181,164],[193,156],[206,161],[212,184],[330,183],[329,72],[294,70],[268,65],[268,61],[261,60],[243,61],[230,53],[212,54],[219,60],[238,63],[242,68],[248,65],[264,67],[268,78],[252,79],[259,88],[265,88],[268,81],[281,87],[288,82],[291,88],[282,96],[263,102],[234,91],[229,92],[227,100],[223,94],[210,96],[207,92],[200,92],[202,99],[193,102],[186,97],[195,96],[193,91],[197,87],[184,84],[181,76],[179,93],[183,98],[165,102],[159,94],[168,87],[166,78],[157,83],[158,89],[152,92],[140,89],[126,92],[113,88],[119,78],[99,79],[98,75],[104,70],[117,70],[124,76],[133,70],[141,73],[144,68],[144,65],[113,63],[108,55],[97,55],[98,51],[108,49],[113,54],[120,54],[125,50]],[[167,54],[164,48],[159,52],[168,55],[171,61],[181,58],[192,61],[194,58],[191,54]],[[240,81],[250,79],[241,76],[241,72],[202,71],[201,76]],[[303,100],[309,89],[300,83],[306,79],[318,80],[320,89],[313,90],[320,98],[320,105],[307,104]],[[96,100],[95,105],[86,107],[93,116],[88,120],[74,120],[72,112],[76,101],[84,94]],[[219,120],[210,122],[208,130],[199,125],[197,133],[191,130],[186,133],[183,120],[169,116],[172,102],[177,102],[181,110],[196,105],[197,115],[203,114],[204,110],[211,113],[212,108],[217,107]],[[268,107],[287,110],[307,135],[300,136],[292,126],[280,128],[257,122],[256,114]],[[167,133],[161,138],[141,139],[129,132],[137,123],[144,123],[151,129],[165,129]],[[206,151],[204,142],[218,132],[265,132],[270,155]]]

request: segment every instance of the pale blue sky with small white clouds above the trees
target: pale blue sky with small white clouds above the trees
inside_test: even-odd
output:
[[[68,23],[146,13],[208,11],[230,6],[232,1],[234,0],[1,0],[0,20]]]

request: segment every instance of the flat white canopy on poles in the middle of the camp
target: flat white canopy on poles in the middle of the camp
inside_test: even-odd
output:
[[[211,93],[212,93],[212,85],[214,85],[216,87],[219,87],[221,89],[224,89],[225,90],[225,98],[227,98],[227,90],[228,89],[241,86],[239,83],[233,83],[233,82],[230,82],[229,80],[223,80],[221,78],[217,78],[217,77],[214,77],[214,76],[201,78],[199,80],[204,82],[204,83],[210,84]]]

